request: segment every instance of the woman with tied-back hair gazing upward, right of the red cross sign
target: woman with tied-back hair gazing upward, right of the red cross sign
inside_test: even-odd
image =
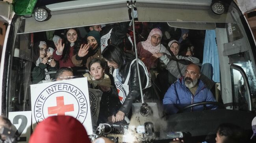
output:
[[[115,115],[121,107],[118,98],[118,92],[115,88],[113,76],[105,74],[102,61],[99,59],[92,59],[89,63],[89,73],[84,74],[89,81],[89,87],[100,89],[103,93],[100,100],[100,110],[98,115],[97,125],[99,123],[116,122]]]

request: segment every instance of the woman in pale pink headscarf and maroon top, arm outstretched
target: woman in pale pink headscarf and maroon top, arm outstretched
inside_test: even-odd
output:
[[[145,63],[148,69],[154,69],[157,67],[158,53],[169,54],[166,47],[160,44],[162,38],[162,32],[160,29],[152,29],[148,35],[148,38],[144,42],[137,44],[138,56]]]

